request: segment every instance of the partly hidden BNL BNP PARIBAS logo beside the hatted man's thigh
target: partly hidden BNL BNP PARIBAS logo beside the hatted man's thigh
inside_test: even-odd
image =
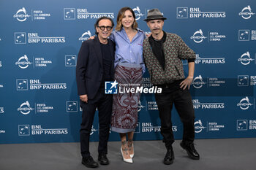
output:
[[[194,109],[224,109],[225,103],[200,103],[199,99],[192,99]]]

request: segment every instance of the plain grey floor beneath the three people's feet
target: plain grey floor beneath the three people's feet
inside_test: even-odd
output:
[[[166,151],[161,141],[135,142],[134,163],[122,161],[120,142],[109,142],[110,165],[97,169],[246,170],[256,167],[256,138],[197,139],[195,147],[200,153],[199,161],[189,159],[179,142],[173,144],[175,160],[169,166],[162,163]],[[90,144],[94,159],[97,159],[97,144]],[[0,170],[88,169],[80,161],[79,143],[0,144]]]

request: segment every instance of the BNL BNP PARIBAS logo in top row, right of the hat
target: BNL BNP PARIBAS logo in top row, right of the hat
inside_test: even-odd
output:
[[[226,12],[203,12],[199,7],[177,7],[176,18],[226,18]]]

